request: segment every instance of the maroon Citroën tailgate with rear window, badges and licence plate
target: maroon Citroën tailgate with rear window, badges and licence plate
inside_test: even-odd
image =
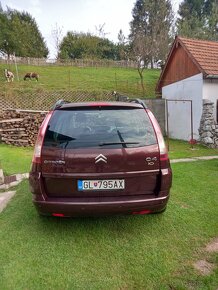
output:
[[[159,184],[159,147],[140,105],[56,110],[41,162],[49,197],[150,195]]]

